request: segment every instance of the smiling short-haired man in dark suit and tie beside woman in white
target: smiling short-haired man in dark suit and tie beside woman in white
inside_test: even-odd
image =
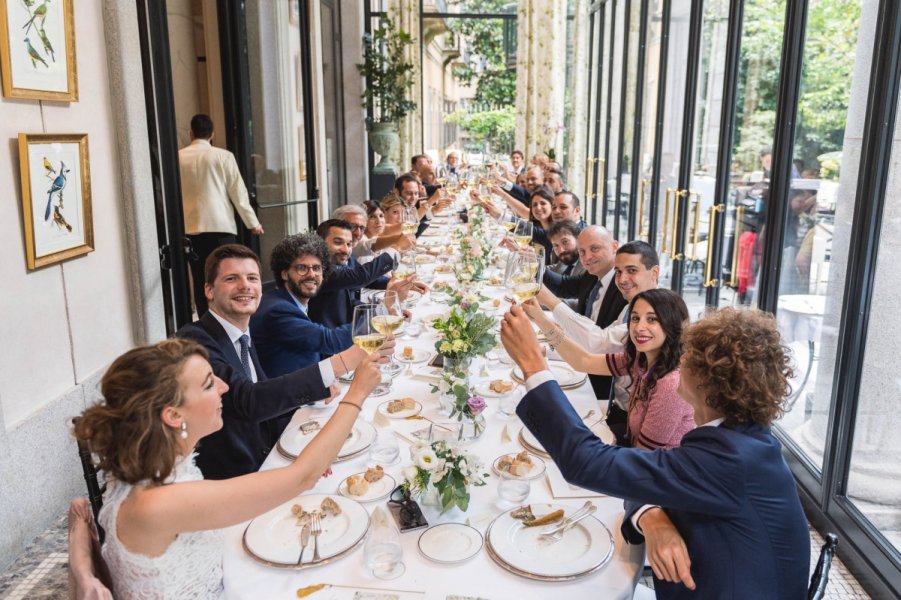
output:
[[[216,377],[228,384],[222,397],[223,426],[197,449],[197,465],[207,479],[259,469],[282,433],[272,420],[329,398],[335,376],[366,356],[354,347],[318,365],[268,379],[250,336],[250,317],[263,293],[260,270],[260,260],[250,248],[239,244],[216,248],[205,269],[210,309],[175,334],[206,348]]]

